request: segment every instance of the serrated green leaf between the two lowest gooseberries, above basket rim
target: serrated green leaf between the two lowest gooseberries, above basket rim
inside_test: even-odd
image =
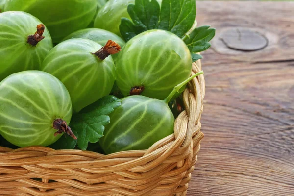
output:
[[[114,96],[100,98],[72,118],[71,128],[77,132],[77,146],[86,150],[88,143],[96,143],[103,136],[104,125],[110,123],[107,116],[121,105]]]

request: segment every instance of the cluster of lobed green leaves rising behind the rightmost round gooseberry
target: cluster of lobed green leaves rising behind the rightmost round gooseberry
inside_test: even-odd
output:
[[[191,53],[198,53],[208,49],[209,41],[215,36],[216,30],[210,26],[192,28],[197,24],[195,0],[162,0],[161,8],[156,0],[135,0],[127,10],[132,21],[122,18],[120,25],[126,41],[144,31],[162,29],[182,38]],[[200,55],[193,54],[193,60],[199,58]]]

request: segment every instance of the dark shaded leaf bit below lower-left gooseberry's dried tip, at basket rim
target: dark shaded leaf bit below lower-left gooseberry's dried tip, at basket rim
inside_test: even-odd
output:
[[[70,125],[71,126],[71,125]],[[74,135],[78,137],[78,133],[73,131]],[[77,144],[77,140],[73,139],[67,134],[63,134],[59,140],[51,144],[49,147],[55,150],[73,149]]]

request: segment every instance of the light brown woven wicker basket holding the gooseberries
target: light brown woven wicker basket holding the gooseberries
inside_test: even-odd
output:
[[[201,63],[193,64],[193,73]],[[186,196],[197,161],[205,83],[183,92],[174,134],[148,150],[110,155],[49,147],[0,147],[0,196]]]

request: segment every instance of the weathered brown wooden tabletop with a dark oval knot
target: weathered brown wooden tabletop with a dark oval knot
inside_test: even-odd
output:
[[[294,2],[197,1],[197,22],[217,34],[188,196],[294,196]]]

